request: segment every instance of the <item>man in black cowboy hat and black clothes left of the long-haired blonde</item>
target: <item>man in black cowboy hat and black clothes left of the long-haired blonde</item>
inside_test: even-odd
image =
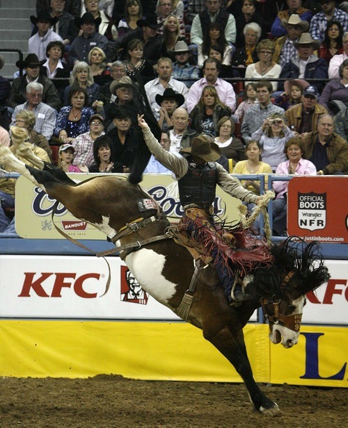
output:
[[[157,63],[161,57],[163,38],[157,34],[159,24],[157,24],[156,15],[148,15],[144,19],[136,22],[138,28],[130,33],[122,35],[117,40],[110,40],[107,47],[106,56],[111,60],[116,57],[125,60],[127,56],[127,46],[130,40],[139,39],[144,44],[143,55],[152,65]]]

